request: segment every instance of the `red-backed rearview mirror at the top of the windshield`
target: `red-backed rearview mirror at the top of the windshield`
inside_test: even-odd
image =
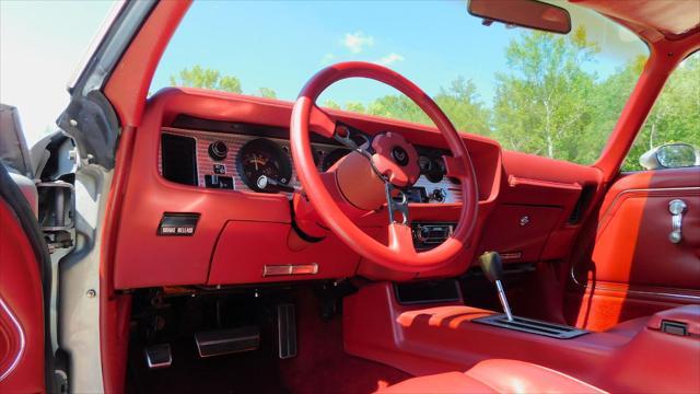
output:
[[[569,11],[536,0],[469,0],[468,10],[471,15],[483,18],[487,26],[497,21],[545,32],[571,32]]]

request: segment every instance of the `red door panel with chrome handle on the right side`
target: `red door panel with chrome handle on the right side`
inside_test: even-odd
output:
[[[668,237],[674,199],[687,205],[679,243]],[[623,175],[608,192],[598,219],[592,265],[575,269],[585,273],[578,278],[587,282],[585,291],[568,300],[579,326],[606,329],[700,303],[700,167]]]

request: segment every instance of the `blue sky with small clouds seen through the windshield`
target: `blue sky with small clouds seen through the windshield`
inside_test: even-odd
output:
[[[638,38],[593,12],[574,7],[572,15],[574,27],[594,26],[593,38],[606,43],[594,66],[602,76],[630,55],[629,45],[618,44],[631,38],[638,44],[632,51],[646,51]],[[393,68],[429,94],[458,77],[471,79],[489,105],[494,72],[508,69],[504,48],[522,32],[483,26],[468,14],[466,1],[201,1],[171,40],[151,92],[168,86],[179,70],[200,65],[237,77],[244,93],[265,86],[293,100],[323,67],[363,60]],[[386,93],[392,90],[378,82],[355,79],[331,86],[319,101],[368,103]]]

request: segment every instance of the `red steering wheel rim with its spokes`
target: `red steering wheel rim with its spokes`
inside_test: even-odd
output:
[[[310,126],[314,132],[324,137],[349,140],[347,135],[339,136],[338,129],[340,128],[337,128],[336,119],[316,105],[316,99],[324,90],[332,83],[348,78],[372,79],[397,89],[412,100],[433,120],[447,141],[452,157],[443,157],[446,175],[460,181],[463,206],[456,229],[440,246],[425,252],[416,251],[411,228],[407,223],[408,204],[404,199],[404,205],[400,205],[401,202],[392,198],[389,193],[396,186],[404,187],[406,184],[390,185],[390,176],[386,176],[386,173],[380,175],[387,186],[388,245],[374,240],[362,231],[343,213],[338,202],[326,189],[314,164],[310,144]],[[375,264],[400,271],[415,273],[435,269],[448,264],[467,245],[475,227],[478,207],[477,185],[469,152],[447,116],[435,102],[399,73],[382,66],[360,61],[341,62],[320,70],[302,89],[294,104],[291,119],[291,148],[296,174],[306,197],[320,220],[350,248]],[[372,160],[371,154],[365,155]],[[386,161],[387,158],[383,158],[383,160]],[[401,211],[401,209],[406,211]],[[404,213],[405,220],[402,222],[394,220],[395,211]]]

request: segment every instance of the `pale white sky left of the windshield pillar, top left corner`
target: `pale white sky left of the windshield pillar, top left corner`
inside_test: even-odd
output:
[[[0,0],[0,102],[19,108],[30,146],[56,130],[66,85],[112,4]]]

